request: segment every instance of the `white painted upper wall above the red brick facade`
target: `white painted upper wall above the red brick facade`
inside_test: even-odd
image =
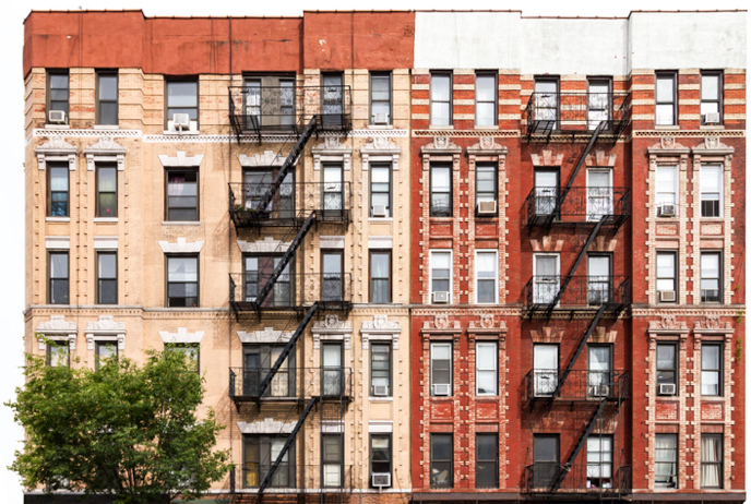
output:
[[[632,69],[746,68],[744,12],[633,12],[629,19],[416,12],[415,68],[628,75]]]

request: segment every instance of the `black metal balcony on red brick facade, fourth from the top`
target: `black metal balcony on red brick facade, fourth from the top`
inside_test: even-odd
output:
[[[561,401],[625,400],[629,398],[628,371],[570,371],[560,387],[563,370],[533,369],[526,376],[527,400],[556,399]]]

